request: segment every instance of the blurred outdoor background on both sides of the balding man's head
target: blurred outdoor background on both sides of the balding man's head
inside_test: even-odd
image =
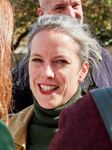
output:
[[[13,67],[27,53],[29,27],[38,17],[38,0],[11,0],[15,28],[13,36]],[[94,31],[100,44],[112,55],[112,0],[82,0],[84,22]]]

